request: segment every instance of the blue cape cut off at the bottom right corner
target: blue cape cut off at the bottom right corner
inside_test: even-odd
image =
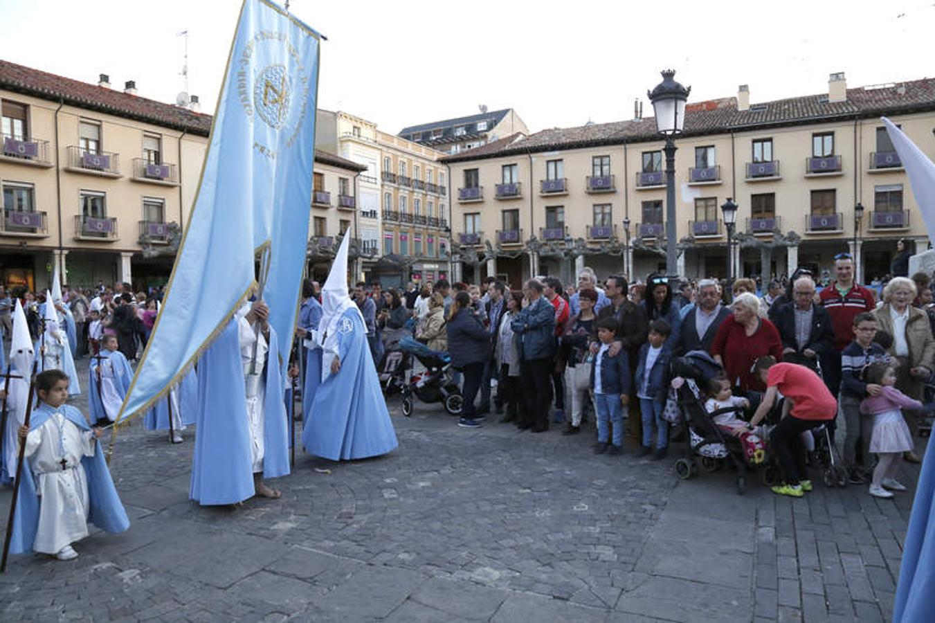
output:
[[[902,548],[893,623],[930,621],[935,611],[935,446],[928,439]]]

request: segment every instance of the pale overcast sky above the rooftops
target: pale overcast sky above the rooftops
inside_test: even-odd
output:
[[[182,90],[213,112],[240,0],[0,0],[0,57],[174,102]],[[530,130],[633,115],[659,70],[691,85],[691,101],[750,85],[751,101],[827,93],[935,73],[935,1],[670,0],[371,2],[292,0],[328,37],[319,107],[400,128],[513,108]]]

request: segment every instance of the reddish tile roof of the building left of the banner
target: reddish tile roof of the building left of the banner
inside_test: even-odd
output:
[[[211,115],[0,60],[0,88],[207,137]]]

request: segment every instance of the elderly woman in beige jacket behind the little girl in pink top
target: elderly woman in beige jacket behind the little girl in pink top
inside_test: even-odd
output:
[[[935,339],[932,339],[926,312],[912,307],[915,296],[913,280],[894,277],[883,290],[883,306],[872,313],[879,329],[893,336],[893,344],[887,352],[899,361],[896,388],[910,398],[921,400],[935,357]],[[918,439],[917,413],[903,409],[902,414],[913,439]],[[914,452],[906,453],[904,458],[911,463],[919,462]]]

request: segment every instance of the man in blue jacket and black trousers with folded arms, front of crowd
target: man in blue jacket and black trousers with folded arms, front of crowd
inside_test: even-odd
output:
[[[525,400],[525,419],[519,428],[533,432],[549,429],[550,374],[554,358],[555,309],[542,296],[544,286],[530,279],[523,294],[529,304],[511,323],[520,354],[520,386]]]

